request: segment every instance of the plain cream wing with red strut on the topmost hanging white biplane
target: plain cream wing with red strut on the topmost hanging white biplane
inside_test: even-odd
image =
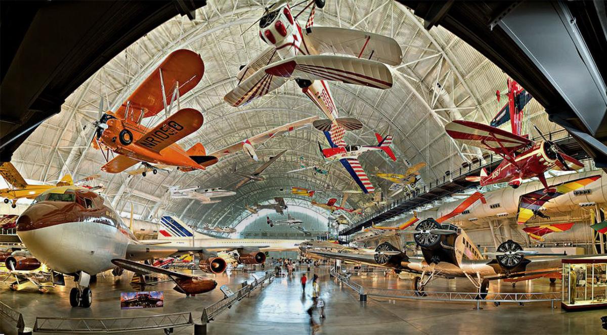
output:
[[[389,65],[402,61],[402,50],[393,38],[360,30],[337,27],[310,27],[305,47],[317,53],[351,55]]]

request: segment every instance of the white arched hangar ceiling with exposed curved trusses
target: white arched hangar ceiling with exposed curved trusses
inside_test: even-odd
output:
[[[181,107],[193,107],[205,115],[205,124],[180,141],[185,148],[200,142],[211,152],[264,130],[320,115],[293,81],[239,108],[223,101],[225,93],[236,86],[239,67],[266,48],[256,26],[246,30],[262,15],[265,4],[266,1],[213,0],[198,10],[194,21],[175,17],[148,33],[75,90],[61,113],[45,121],[19,147],[13,163],[26,178],[45,182],[66,173],[75,175],[75,179],[98,173],[105,163],[103,155],[88,144],[91,122],[97,118],[101,98],[106,107],[109,104],[110,109],[115,109],[166,55],[182,48],[200,53],[205,62],[202,81],[180,100]],[[307,12],[299,21],[305,19]],[[362,130],[347,133],[348,143],[375,144],[374,132],[395,137],[393,149],[398,161],[367,154],[361,157],[361,163],[368,174],[376,168],[398,173],[408,162],[426,161],[428,166],[421,171],[422,178],[433,180],[480,153],[478,149],[459,146],[443,128],[450,120],[460,118],[487,123],[501,107],[495,91],[504,89],[507,76],[480,53],[441,27],[426,31],[419,18],[393,1],[328,0],[324,9],[316,10],[314,24],[392,36],[402,48],[402,64],[391,67],[394,77],[391,89],[331,83],[340,115],[356,117],[365,125]],[[536,124],[544,132],[555,129],[539,104],[532,101],[527,106],[526,127]],[[144,125],[153,126],[163,117],[160,113],[148,118]],[[319,141],[326,143],[322,134],[311,127],[268,141],[257,149],[263,159],[283,149],[287,153],[266,170],[266,180],[248,183],[234,197],[212,205],[171,200],[168,186],[231,188],[239,180],[231,173],[234,166],[248,172],[260,163],[237,154],[222,158],[206,171],[159,172],[145,178],[102,173],[97,182],[105,186],[105,194],[118,211],[130,211],[127,205],[132,203],[141,218],[171,212],[194,225],[236,225],[243,218],[245,205],[279,195],[297,198],[288,191],[280,191],[291,186],[324,190],[315,198],[319,202],[340,197],[344,189],[357,189],[339,164],[323,165],[330,171],[328,175],[315,176],[311,170],[285,173],[299,168],[300,157],[304,157],[308,166],[325,164],[318,153]],[[373,182],[388,186],[379,180]],[[359,201],[368,201],[368,197],[353,195],[348,205],[356,206]]]

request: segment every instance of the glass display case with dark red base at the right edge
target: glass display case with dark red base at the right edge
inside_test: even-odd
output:
[[[561,308],[607,308],[607,256],[563,260]]]

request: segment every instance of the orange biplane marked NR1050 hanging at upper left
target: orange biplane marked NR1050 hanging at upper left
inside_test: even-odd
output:
[[[174,101],[177,101],[179,109],[179,96],[193,89],[204,72],[205,65],[200,55],[190,50],[176,50],[115,112],[108,111],[101,115],[102,101],[92,140],[95,149],[106,149],[107,152],[104,153],[107,163],[101,170],[114,174],[141,162],[145,176],[146,171],[157,173],[157,167],[152,164],[194,171],[217,163],[217,158],[207,156],[205,147],[200,143],[187,151],[175,143],[202,126],[202,113],[184,108],[168,116]],[[162,110],[168,118],[153,129],[141,124],[144,118],[157,115]],[[118,156],[110,160],[110,151]]]

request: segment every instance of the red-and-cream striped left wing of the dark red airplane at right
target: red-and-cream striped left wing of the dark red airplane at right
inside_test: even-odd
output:
[[[472,121],[452,121],[446,124],[445,130],[455,140],[459,140],[470,146],[489,149],[501,155],[509,155],[522,147],[532,144],[529,138]]]

